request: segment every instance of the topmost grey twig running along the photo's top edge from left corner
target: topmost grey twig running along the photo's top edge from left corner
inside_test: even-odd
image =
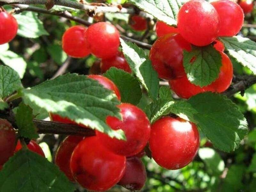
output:
[[[0,0],[0,6],[6,4],[33,4],[33,5],[45,5],[45,0]],[[134,9],[119,8],[117,6],[93,6],[90,4],[82,4],[69,0],[55,0],[55,5],[61,5],[74,9],[87,11],[90,15],[95,15],[98,12],[120,12],[120,13],[134,13]]]

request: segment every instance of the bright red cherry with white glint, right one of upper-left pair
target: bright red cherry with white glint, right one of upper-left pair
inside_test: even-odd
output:
[[[106,59],[117,54],[120,35],[114,25],[106,22],[92,24],[85,37],[88,48],[96,57]]]

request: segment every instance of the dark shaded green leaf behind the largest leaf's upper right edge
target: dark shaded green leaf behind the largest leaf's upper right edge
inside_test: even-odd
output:
[[[121,94],[123,103],[137,105],[141,99],[141,88],[138,79],[122,69],[111,67],[105,74],[107,78],[116,84]],[[132,90],[132,91],[131,91]]]

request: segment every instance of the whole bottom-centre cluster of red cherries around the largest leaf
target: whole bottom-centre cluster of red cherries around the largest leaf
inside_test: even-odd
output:
[[[116,85],[100,75],[89,75],[121,100]],[[146,169],[140,157],[149,143],[152,157],[166,169],[180,169],[189,164],[199,148],[196,125],[181,118],[163,117],[152,126],[138,107],[122,103],[117,106],[122,120],[108,116],[106,123],[112,130],[123,130],[126,140],[111,138],[96,131],[95,136],[68,136],[59,146],[55,164],[71,181],[86,189],[105,191],[114,185],[140,190],[146,182]],[[50,113],[52,121],[76,124],[74,121]],[[85,127],[82,124],[79,126]],[[171,147],[171,148],[170,148]]]

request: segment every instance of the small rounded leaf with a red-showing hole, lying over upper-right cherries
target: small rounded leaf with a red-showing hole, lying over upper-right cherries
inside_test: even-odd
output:
[[[188,80],[200,87],[211,84],[220,74],[221,55],[212,45],[192,46],[192,51],[183,51],[183,65]]]

